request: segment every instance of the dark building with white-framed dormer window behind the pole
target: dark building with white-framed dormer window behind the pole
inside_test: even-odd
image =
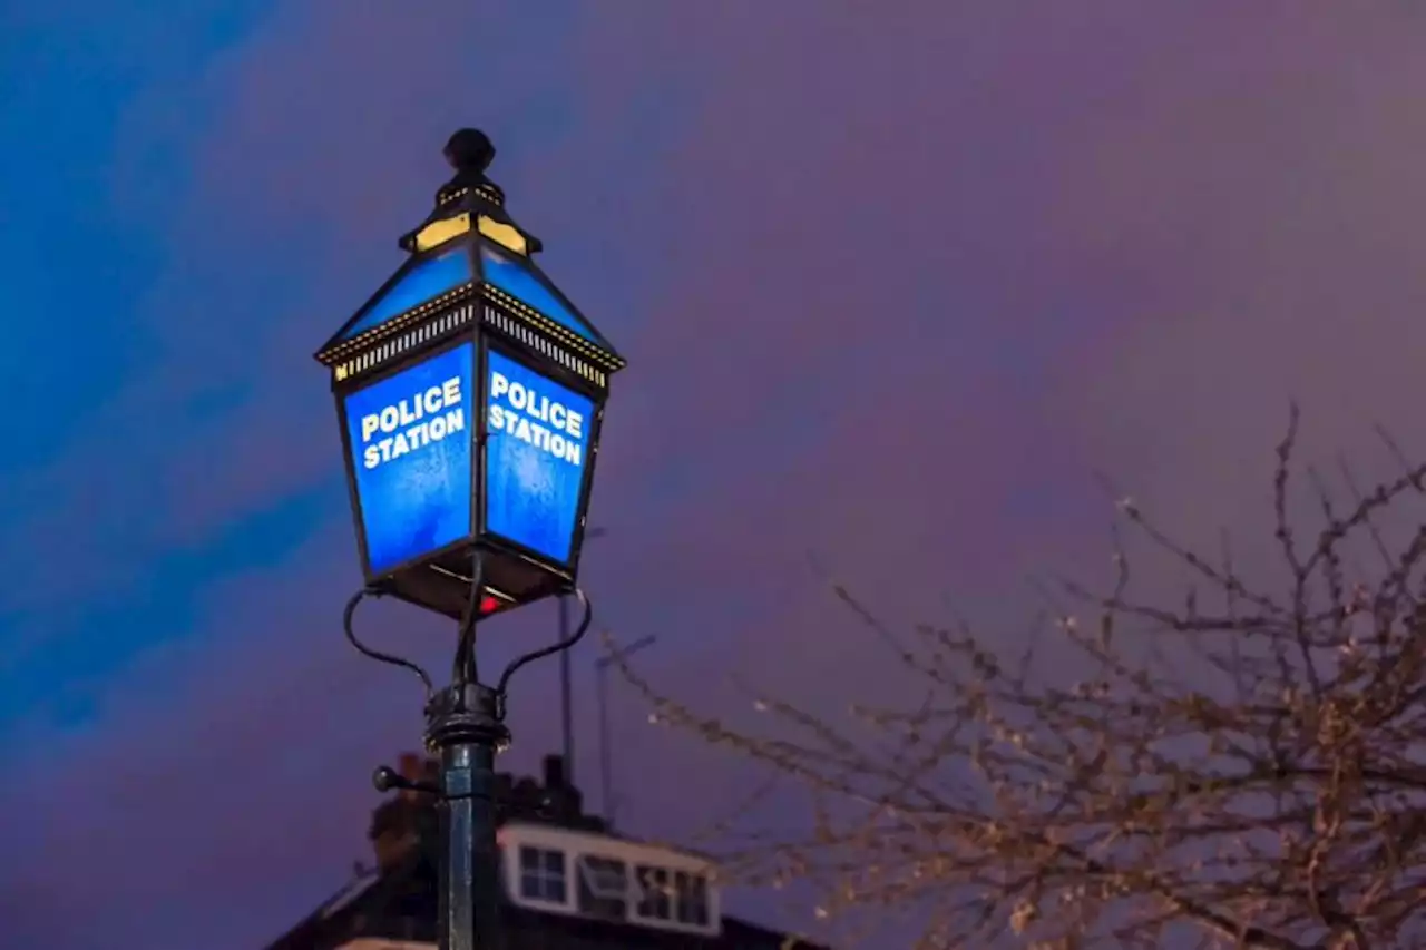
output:
[[[408,779],[436,763],[404,756]],[[723,913],[703,857],[635,842],[586,814],[545,759],[542,782],[498,776],[506,950],[824,950]],[[376,863],[267,950],[432,950],[439,829],[429,796],[401,792],[372,813]]]

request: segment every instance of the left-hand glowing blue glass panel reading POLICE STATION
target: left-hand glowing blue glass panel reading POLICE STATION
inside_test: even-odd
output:
[[[471,533],[473,354],[461,344],[344,399],[372,573]]]

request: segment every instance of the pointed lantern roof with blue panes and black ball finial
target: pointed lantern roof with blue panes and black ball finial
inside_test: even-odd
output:
[[[317,352],[334,364],[354,348],[385,338],[412,320],[482,295],[516,314],[532,311],[572,334],[580,349],[599,351],[610,369],[623,358],[535,264],[539,238],[505,211],[505,193],[485,171],[495,147],[462,128],[445,148],[455,175],[436,191],[435,210],[399,245],[408,260]],[[558,331],[556,331],[558,332]]]

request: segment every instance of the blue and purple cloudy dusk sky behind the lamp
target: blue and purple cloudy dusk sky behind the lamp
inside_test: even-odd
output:
[[[369,856],[421,696],[341,639],[311,352],[453,128],[630,361],[600,626],[704,708],[726,672],[833,709],[883,680],[827,575],[1011,630],[1027,573],[1098,571],[1097,471],[1211,536],[1255,523],[1291,398],[1309,454],[1420,445],[1423,31],[1406,1],[0,0],[0,943],[251,949]],[[486,662],[553,619],[491,623]],[[515,680],[509,767],[558,743],[555,685]],[[750,782],[629,690],[615,716],[636,833]]]

